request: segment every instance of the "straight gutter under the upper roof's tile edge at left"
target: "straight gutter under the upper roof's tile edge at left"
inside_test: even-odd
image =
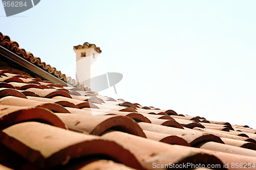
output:
[[[38,66],[34,65],[33,63],[25,60],[22,57],[19,57],[18,55],[14,54],[13,52],[7,50],[6,48],[4,48],[3,46],[0,45],[0,55],[2,55],[3,57],[17,63],[20,66],[23,66],[29,70],[31,70],[32,72],[34,72],[34,74],[49,80],[53,83],[56,84],[62,84],[62,85],[70,85],[65,81],[60,80],[59,78],[51,75],[49,72],[45,71],[44,69],[39,68]],[[72,86],[72,85],[70,85]]]

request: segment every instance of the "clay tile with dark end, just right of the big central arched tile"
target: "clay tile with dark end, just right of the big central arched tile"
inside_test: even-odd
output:
[[[164,133],[157,133],[157,132],[151,132],[146,130],[143,130],[143,132],[145,133],[146,138],[148,139],[152,139],[152,140],[156,140],[156,141],[160,141],[168,144],[179,144],[179,145],[190,147],[190,144],[186,140],[175,135],[168,135]]]

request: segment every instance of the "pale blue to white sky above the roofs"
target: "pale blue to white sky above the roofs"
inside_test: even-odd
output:
[[[74,45],[94,43],[114,99],[255,126],[256,1],[41,0],[0,32],[75,78]]]

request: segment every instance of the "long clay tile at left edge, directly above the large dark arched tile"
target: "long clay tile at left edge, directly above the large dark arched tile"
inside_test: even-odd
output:
[[[53,112],[70,113],[67,109],[55,103],[33,101],[29,99],[17,98],[15,96],[6,96],[5,98],[0,99],[0,104],[10,106],[43,107]]]

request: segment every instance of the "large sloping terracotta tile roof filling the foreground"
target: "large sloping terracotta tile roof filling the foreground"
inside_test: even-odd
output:
[[[1,37],[2,46],[17,47]],[[231,164],[256,163],[256,129],[7,69],[0,69],[0,127],[0,169],[168,169],[162,165],[169,163],[221,165],[208,169],[227,169],[228,163],[228,169],[241,169]]]

